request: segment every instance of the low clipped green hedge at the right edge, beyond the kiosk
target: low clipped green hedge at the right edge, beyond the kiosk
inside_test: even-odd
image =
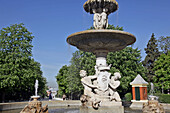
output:
[[[170,95],[169,94],[155,94],[155,96],[159,97],[159,102],[161,102],[161,103],[170,103]]]

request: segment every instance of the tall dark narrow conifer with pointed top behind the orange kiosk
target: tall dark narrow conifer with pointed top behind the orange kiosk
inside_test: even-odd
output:
[[[151,39],[147,44],[147,48],[145,48],[145,53],[147,54],[144,61],[142,62],[144,67],[147,69],[147,78],[148,82],[153,82],[153,76],[155,76],[154,62],[159,57],[157,40],[155,39],[154,33],[152,33]]]

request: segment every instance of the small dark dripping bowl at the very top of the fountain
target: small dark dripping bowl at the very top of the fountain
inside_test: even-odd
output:
[[[113,13],[118,9],[116,0],[88,0],[83,5],[86,12],[90,14],[102,13],[103,9],[107,10],[107,14]]]

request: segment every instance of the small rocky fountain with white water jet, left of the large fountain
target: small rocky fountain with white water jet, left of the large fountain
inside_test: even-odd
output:
[[[31,96],[33,101],[29,102],[28,105],[20,113],[48,113],[48,106],[42,107],[42,102],[38,101],[40,96],[37,95],[38,92],[38,80],[35,82],[35,95]]]

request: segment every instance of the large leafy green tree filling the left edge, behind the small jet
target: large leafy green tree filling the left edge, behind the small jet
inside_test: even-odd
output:
[[[29,99],[35,80],[40,92],[45,88],[40,64],[32,58],[32,33],[24,24],[14,24],[0,31],[0,94],[2,100]]]

